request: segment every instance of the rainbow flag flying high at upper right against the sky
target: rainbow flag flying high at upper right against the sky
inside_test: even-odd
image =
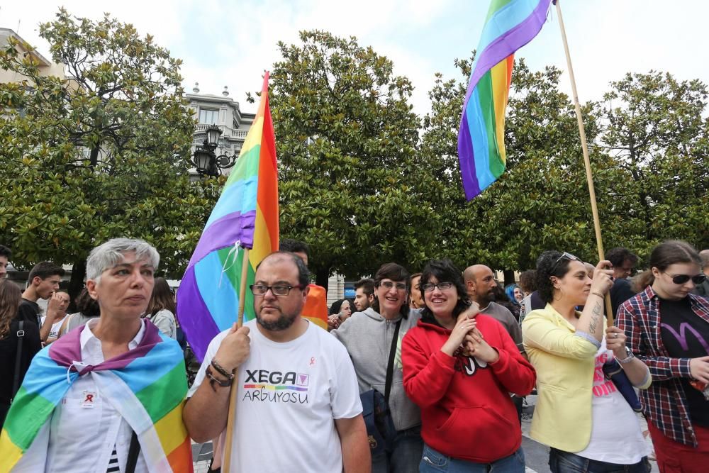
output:
[[[514,52],[547,20],[551,0],[492,0],[477,48],[458,134],[465,198],[480,194],[505,171],[505,109]]]

